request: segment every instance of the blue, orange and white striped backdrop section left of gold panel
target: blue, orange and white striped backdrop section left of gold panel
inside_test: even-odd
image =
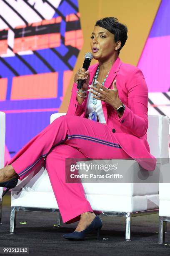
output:
[[[0,1],[0,110],[8,158],[58,112],[82,44],[77,0]]]

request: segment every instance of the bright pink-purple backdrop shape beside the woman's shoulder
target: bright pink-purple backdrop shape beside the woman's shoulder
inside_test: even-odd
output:
[[[168,92],[170,88],[170,36],[148,38],[138,68],[144,74],[149,92]]]

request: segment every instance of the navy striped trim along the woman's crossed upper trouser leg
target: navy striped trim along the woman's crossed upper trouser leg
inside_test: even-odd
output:
[[[83,138],[82,138],[83,137]],[[112,143],[112,142],[108,142],[108,141],[104,141],[104,140],[101,140],[101,139],[97,139],[97,138],[93,138],[93,137],[90,137],[90,136],[85,136],[85,135],[78,135],[78,134],[73,134],[73,135],[67,135],[65,140],[66,139],[73,139],[73,138],[79,138],[79,139],[84,139],[84,140],[89,140],[89,141],[94,141],[94,142],[97,142],[97,143],[100,143],[100,144],[103,144],[103,145],[107,145],[107,146],[112,146],[112,147],[115,147],[115,148],[121,148],[121,146],[119,144],[116,144],[116,143]],[[55,146],[59,145],[60,143],[62,143],[63,141],[65,140],[62,140],[60,141],[59,143],[57,143]],[[52,148],[54,148],[55,146],[53,146]],[[47,153],[48,154],[48,153]],[[18,175],[20,177],[22,177],[23,175],[25,175],[27,172],[29,172],[29,170],[35,166],[35,164],[37,164],[38,161],[40,161],[41,158],[47,156],[47,154],[44,154],[42,156],[39,157],[38,160],[36,160],[33,164],[31,164],[30,166],[28,166],[26,169],[24,169],[22,172],[20,172]]]

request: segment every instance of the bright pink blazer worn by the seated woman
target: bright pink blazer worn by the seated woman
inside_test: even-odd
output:
[[[98,64],[90,66],[90,82],[97,70]],[[120,100],[126,106],[121,118],[109,104],[102,101],[102,110],[110,131],[115,129],[115,139],[123,150],[148,171],[155,169],[156,159],[150,154],[147,141],[148,129],[148,87],[143,73],[137,67],[123,63],[118,57],[110,69],[105,87],[113,89],[113,81],[116,86]],[[88,89],[90,89],[88,87]],[[87,97],[88,97],[87,91]],[[77,98],[77,84],[74,83],[71,92],[67,115],[78,115],[85,118],[87,97],[82,105]],[[114,157],[113,157],[114,158]]]

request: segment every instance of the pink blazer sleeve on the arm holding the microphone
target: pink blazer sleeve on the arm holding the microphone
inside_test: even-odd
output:
[[[77,101],[77,84],[74,83],[71,91],[70,103],[67,109],[66,115],[78,115],[84,117],[85,115],[85,99],[82,104],[78,104]]]

